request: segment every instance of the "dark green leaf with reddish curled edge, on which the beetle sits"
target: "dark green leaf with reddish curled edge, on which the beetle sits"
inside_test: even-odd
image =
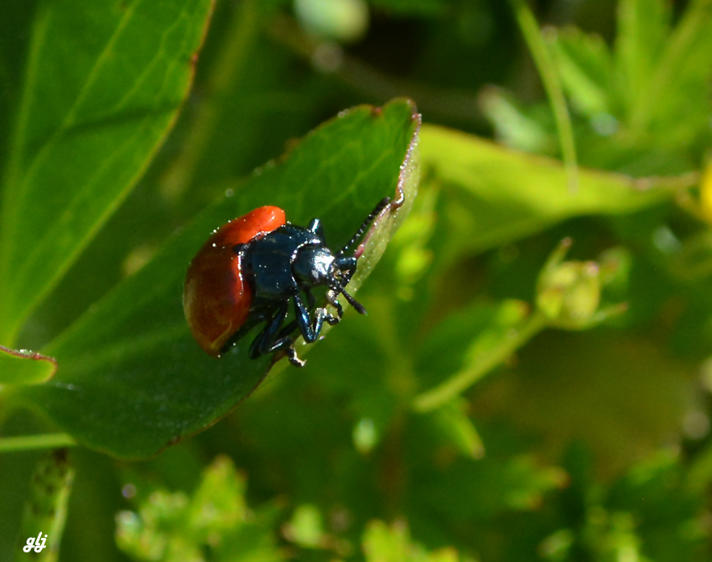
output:
[[[284,208],[295,224],[320,217],[338,247],[379,199],[397,190],[404,204],[368,233],[349,285],[357,288],[415,195],[419,123],[412,103],[400,100],[342,112],[317,128],[234,194],[228,190],[50,344],[57,375],[18,388],[17,397],[44,409],[81,443],[122,457],[150,455],[214,423],[252,391],[271,359],[247,357],[252,334],[220,360],[193,341],[181,307],[193,254],[216,226],[267,203]]]

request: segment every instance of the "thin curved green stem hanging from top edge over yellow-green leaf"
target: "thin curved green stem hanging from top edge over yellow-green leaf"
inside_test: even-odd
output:
[[[559,144],[561,145],[561,156],[569,178],[569,187],[571,191],[575,192],[578,189],[578,158],[576,156],[573,127],[571,126],[571,116],[566,106],[559,74],[529,6],[524,0],[510,0],[510,2],[524,40],[534,59],[534,64],[539,71],[551,109],[554,112],[556,130],[559,136]]]

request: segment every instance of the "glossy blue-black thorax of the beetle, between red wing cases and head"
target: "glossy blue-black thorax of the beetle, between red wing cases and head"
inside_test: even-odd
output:
[[[292,224],[236,247],[242,274],[254,292],[254,304],[281,301],[305,288],[304,280],[295,277],[293,266],[306,248],[324,248],[330,254],[319,234]]]

